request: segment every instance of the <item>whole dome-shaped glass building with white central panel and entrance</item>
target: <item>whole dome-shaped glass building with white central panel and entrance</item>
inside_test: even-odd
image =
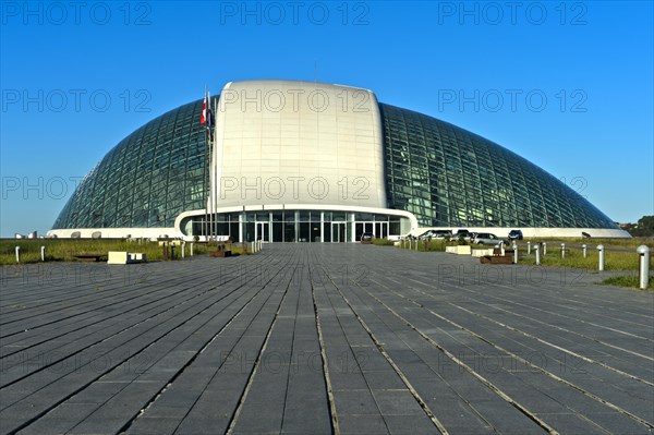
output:
[[[367,89],[233,82],[213,106],[211,130],[197,100],[121,141],[49,233],[336,242],[438,228],[629,237],[524,158],[379,104]]]

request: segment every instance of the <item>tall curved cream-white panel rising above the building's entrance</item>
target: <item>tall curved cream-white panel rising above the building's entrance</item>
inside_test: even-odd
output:
[[[386,208],[375,95],[312,82],[227,84],[216,113],[211,188],[216,208]]]

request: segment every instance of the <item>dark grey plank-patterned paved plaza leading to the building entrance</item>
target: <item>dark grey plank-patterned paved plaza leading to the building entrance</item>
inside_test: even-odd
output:
[[[337,244],[1,269],[2,434],[647,434],[654,295]]]

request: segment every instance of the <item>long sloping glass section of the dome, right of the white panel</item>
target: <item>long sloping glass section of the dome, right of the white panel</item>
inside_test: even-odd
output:
[[[380,104],[388,208],[421,227],[618,228],[577,192],[450,123]]]

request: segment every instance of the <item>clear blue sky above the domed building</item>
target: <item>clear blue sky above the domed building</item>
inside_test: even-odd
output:
[[[370,88],[616,221],[654,213],[651,1],[0,4],[2,237],[44,233],[121,138],[247,78]]]

